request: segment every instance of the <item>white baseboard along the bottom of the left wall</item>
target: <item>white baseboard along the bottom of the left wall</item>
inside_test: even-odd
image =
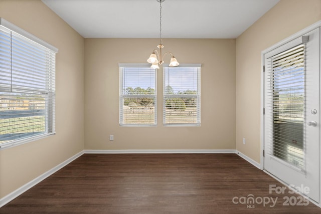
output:
[[[49,177],[50,175],[52,175],[53,173],[55,173],[59,169],[63,168],[67,164],[71,163],[73,160],[75,160],[78,157],[80,157],[83,153],[84,153],[84,151],[81,151],[81,152],[75,154],[71,158],[65,160],[64,162],[60,163],[59,165],[55,166],[54,168],[46,171],[42,175],[36,177],[35,179],[31,180],[30,182],[26,183],[25,185],[21,186],[20,188],[16,189],[15,191],[11,192],[10,194],[6,195],[5,197],[1,198],[0,199],[0,207],[2,207],[5,204],[9,203],[10,201],[12,201],[16,197],[18,197],[19,195],[24,193],[25,191],[27,191],[31,187],[33,187],[36,184],[38,184],[39,182],[43,181],[44,179],[46,179],[47,177]]]

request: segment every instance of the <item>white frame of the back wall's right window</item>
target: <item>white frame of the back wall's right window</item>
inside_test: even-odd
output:
[[[169,64],[163,64],[163,126],[168,127],[199,127],[201,126],[201,67],[202,64],[180,64],[177,67],[170,67]],[[168,69],[179,69],[179,68],[197,68],[197,93],[196,94],[166,94],[166,83],[167,76],[166,71]],[[184,71],[182,71],[184,72]],[[179,97],[179,98],[196,98],[196,123],[167,123],[166,122],[166,100],[168,97]]]

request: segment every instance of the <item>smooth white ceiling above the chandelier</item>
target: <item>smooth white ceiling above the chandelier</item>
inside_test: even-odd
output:
[[[42,0],[84,38],[159,38],[156,0]],[[279,0],[165,0],[163,38],[237,38]]]

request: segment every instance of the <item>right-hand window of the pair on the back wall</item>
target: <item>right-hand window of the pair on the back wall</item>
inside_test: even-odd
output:
[[[200,64],[164,66],[163,120],[165,126],[200,126]]]

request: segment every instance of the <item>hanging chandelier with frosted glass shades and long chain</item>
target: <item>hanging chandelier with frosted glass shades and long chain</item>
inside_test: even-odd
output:
[[[153,69],[158,69],[159,66],[158,65],[162,65],[164,63],[163,59],[164,56],[167,54],[172,55],[171,58],[171,62],[170,62],[170,67],[175,67],[180,65],[180,63],[177,61],[177,59],[174,57],[174,55],[171,52],[166,52],[163,56],[162,56],[162,48],[164,48],[164,45],[162,45],[162,2],[164,2],[165,0],[156,0],[157,2],[159,2],[159,40],[160,40],[160,44],[157,45],[157,48],[159,49],[159,52],[154,49],[153,52],[151,53],[151,55],[149,56],[147,62],[151,64],[150,68]]]

